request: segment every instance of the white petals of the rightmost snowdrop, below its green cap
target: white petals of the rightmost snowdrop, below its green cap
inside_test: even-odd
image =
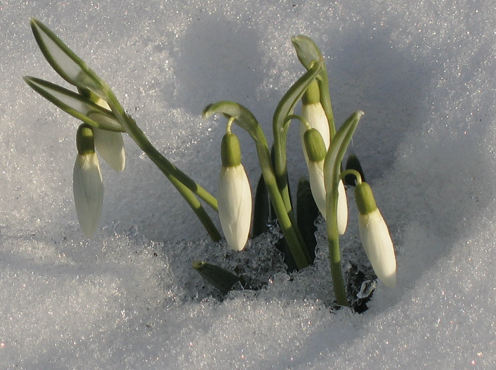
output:
[[[391,235],[379,209],[359,214],[358,227],[365,253],[377,277],[387,287],[396,286],[396,256]]]

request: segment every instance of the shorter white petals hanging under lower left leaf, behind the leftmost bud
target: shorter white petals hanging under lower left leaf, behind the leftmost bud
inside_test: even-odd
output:
[[[93,137],[95,149],[109,167],[117,172],[123,171],[126,166],[126,153],[122,134],[93,128]]]

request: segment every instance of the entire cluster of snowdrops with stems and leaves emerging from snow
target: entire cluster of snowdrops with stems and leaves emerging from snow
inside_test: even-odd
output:
[[[298,207],[298,214],[293,211],[286,163],[289,126],[291,121],[299,121],[309,174],[309,181],[300,183],[302,187],[309,187],[311,193],[298,191],[298,204],[300,200],[302,204],[314,202],[315,208],[326,220],[336,303],[348,305],[339,248],[339,236],[345,233],[348,223],[348,204],[343,184],[345,176],[355,178],[359,231],[365,252],[378,278],[388,287],[395,286],[394,246],[370,186],[363,180],[359,164],[341,170],[341,162],[363,112],[353,113],[336,131],[327,69],[321,51],[307,36],[292,38],[297,57],[306,72],[289,88],[275,109],[271,148],[255,116],[244,106],[232,101],[220,101],[204,109],[205,118],[214,114],[227,117],[226,133],[221,142],[222,166],[217,199],[155,149],[122,108],[110,87],[52,31],[36,19],[31,20],[31,28],[50,65],[77,88],[76,92],[37,78],[24,78],[39,94],[83,121],[76,134],[78,154],[73,184],[79,224],[87,237],[91,237],[98,226],[103,199],[103,182],[95,150],[112,169],[122,171],[125,167],[125,153],[121,133],[126,133],[172,182],[197,214],[212,240],[219,241],[221,235],[203,204],[218,212],[226,241],[237,251],[247,245],[252,218],[252,233],[257,234],[264,230],[273,214],[284,234],[286,253],[295,268],[307,267],[313,262],[312,248],[315,247],[307,237],[309,225],[313,226],[318,213],[311,215],[304,211],[304,207],[301,210]],[[296,115],[294,108],[300,100],[301,113]],[[234,124],[253,138],[257,149],[261,177],[255,195],[255,211],[252,210],[250,183],[241,164],[239,140],[232,132]],[[305,196],[300,194],[311,194],[312,199],[300,199]],[[264,199],[270,199],[270,202],[264,202]],[[237,281],[242,281],[219,266],[194,262],[193,267],[223,292],[228,291]]]

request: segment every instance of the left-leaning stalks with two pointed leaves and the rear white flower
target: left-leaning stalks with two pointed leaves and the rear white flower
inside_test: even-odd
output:
[[[217,199],[155,149],[136,122],[126,114],[107,83],[88,68],[54,32],[35,18],[31,18],[31,29],[46,60],[64,80],[77,87],[79,94],[34,77],[25,76],[26,83],[66,113],[92,127],[126,132],[183,196],[212,240],[218,241],[220,234],[198,198],[216,211]],[[102,158],[116,171],[123,170],[125,156],[122,138],[120,135],[100,134],[96,134],[94,141]]]

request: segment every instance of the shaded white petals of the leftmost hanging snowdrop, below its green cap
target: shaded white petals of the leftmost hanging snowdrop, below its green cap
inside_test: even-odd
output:
[[[73,190],[79,225],[90,238],[100,220],[103,203],[103,182],[95,153],[78,154],[74,164]]]

